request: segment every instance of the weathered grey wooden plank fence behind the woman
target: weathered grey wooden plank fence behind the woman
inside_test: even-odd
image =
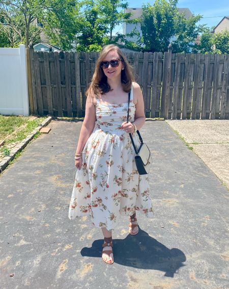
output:
[[[129,52],[146,117],[229,119],[229,55]],[[31,114],[84,116],[97,52],[27,49]]]

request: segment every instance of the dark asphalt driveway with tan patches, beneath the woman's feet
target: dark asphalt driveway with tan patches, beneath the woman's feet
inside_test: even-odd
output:
[[[90,218],[70,221],[81,122],[56,121],[0,175],[1,289],[228,289],[228,190],[164,121],[147,121],[154,218],[121,219],[115,263]]]

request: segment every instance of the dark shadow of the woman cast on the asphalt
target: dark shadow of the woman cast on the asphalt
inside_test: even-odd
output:
[[[96,240],[92,247],[84,247],[82,256],[101,257],[103,240]],[[139,269],[160,270],[165,272],[164,276],[174,277],[177,270],[186,261],[185,254],[177,249],[168,249],[156,239],[139,229],[135,236],[130,234],[123,240],[113,240],[113,253],[115,262],[123,266]]]

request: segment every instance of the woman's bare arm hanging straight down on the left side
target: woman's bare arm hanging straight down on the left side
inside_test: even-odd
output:
[[[85,143],[91,136],[93,129],[95,127],[96,121],[96,111],[95,111],[95,104],[93,99],[88,96],[85,106],[85,117],[82,123],[82,127],[79,134],[79,140],[76,148],[75,154],[81,154],[82,150],[85,146]],[[75,160],[75,166],[80,169],[81,168],[82,159],[79,158]]]

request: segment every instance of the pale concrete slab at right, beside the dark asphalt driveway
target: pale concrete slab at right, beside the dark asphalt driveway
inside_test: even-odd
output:
[[[166,120],[229,189],[229,120]]]

